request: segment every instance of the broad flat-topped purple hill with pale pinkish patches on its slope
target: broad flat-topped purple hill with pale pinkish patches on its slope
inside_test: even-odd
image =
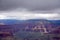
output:
[[[54,22],[49,20],[27,20],[22,24],[20,23],[14,26],[19,26],[17,27],[19,29],[18,32],[27,31],[27,32],[42,32],[42,33],[51,32],[54,28],[58,27]]]

